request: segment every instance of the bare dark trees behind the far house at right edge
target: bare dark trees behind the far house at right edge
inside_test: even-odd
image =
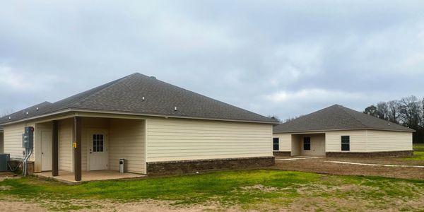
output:
[[[411,95],[400,100],[378,102],[363,111],[373,117],[415,129],[413,143],[424,143],[424,98]]]

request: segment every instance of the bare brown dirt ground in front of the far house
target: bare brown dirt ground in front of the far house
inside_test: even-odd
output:
[[[300,172],[315,172],[329,175],[359,175],[396,177],[404,179],[424,179],[423,167],[384,167],[331,163],[343,161],[351,163],[387,164],[387,165],[424,165],[422,160],[402,160],[401,158],[312,158],[302,160],[278,160],[274,168]]]

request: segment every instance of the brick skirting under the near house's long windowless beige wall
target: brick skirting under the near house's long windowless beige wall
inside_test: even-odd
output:
[[[223,158],[211,160],[177,160],[147,163],[148,175],[182,175],[211,170],[238,170],[269,167],[275,164],[274,157]]]

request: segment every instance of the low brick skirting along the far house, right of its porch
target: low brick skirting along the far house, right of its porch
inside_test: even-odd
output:
[[[412,156],[413,151],[386,151],[386,152],[326,152],[326,157],[408,157]]]

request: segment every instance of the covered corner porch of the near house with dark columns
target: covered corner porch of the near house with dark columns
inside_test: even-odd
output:
[[[35,175],[65,182],[146,174],[146,120],[79,113],[35,124]],[[125,159],[119,173],[119,159]]]

